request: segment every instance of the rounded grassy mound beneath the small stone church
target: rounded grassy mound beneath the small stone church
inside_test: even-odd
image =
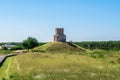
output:
[[[36,47],[34,52],[85,52],[86,50],[80,48],[72,43],[50,42],[45,45]]]

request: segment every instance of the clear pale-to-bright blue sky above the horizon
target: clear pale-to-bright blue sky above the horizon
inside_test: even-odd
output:
[[[56,27],[67,41],[120,40],[120,0],[0,0],[0,42],[50,42]]]

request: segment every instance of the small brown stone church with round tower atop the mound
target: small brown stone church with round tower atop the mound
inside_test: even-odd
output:
[[[66,42],[66,35],[64,34],[64,28],[56,28],[54,35],[55,42]]]

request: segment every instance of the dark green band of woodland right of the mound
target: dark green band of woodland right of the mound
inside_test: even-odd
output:
[[[120,41],[74,42],[86,49],[120,50]]]

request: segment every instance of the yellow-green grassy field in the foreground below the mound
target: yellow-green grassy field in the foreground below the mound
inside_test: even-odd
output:
[[[120,80],[120,51],[31,52],[8,58],[0,80]]]

